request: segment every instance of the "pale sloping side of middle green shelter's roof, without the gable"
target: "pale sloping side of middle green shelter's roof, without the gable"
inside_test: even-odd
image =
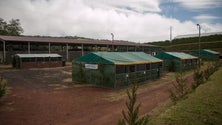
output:
[[[165,53],[167,53],[167,54],[169,54],[171,56],[174,56],[176,58],[183,59],[183,60],[197,58],[195,56],[192,56],[190,54],[186,54],[186,53],[183,53],[183,52],[165,52]]]

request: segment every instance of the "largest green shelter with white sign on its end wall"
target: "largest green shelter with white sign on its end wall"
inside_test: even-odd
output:
[[[80,83],[120,88],[160,77],[162,60],[143,52],[92,52],[73,61],[72,78]]]

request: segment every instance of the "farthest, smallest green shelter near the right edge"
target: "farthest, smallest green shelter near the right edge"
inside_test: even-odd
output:
[[[200,56],[203,61],[217,61],[220,58],[220,54],[218,52],[209,49],[193,51],[192,55]]]

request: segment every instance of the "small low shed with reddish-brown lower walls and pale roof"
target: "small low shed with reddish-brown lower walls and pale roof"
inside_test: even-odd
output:
[[[60,67],[62,56],[59,54],[16,54],[12,65],[18,69]]]

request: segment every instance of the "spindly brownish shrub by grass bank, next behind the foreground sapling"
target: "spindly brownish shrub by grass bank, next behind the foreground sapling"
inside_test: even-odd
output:
[[[186,95],[186,78],[184,78],[183,72],[176,74],[176,82],[173,83],[173,89],[169,90],[170,98],[173,102],[183,98]]]

